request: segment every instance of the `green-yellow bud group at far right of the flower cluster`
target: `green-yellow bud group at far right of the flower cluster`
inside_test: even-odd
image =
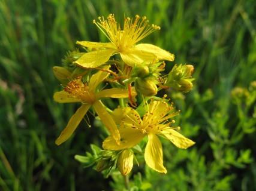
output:
[[[187,93],[188,91],[192,90],[193,84],[192,81],[192,73],[194,72],[194,66],[180,64],[177,66],[173,66],[171,72],[168,74],[167,82],[165,85],[168,87],[173,88],[177,91],[182,91],[183,93]]]

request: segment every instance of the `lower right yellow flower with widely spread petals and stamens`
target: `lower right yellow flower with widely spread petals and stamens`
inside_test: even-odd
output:
[[[156,135],[167,138],[181,149],[195,144],[170,127],[174,121],[168,122],[168,119],[178,113],[173,112],[173,106],[165,101],[151,101],[149,110],[142,120],[137,111],[130,107],[116,109],[113,116],[121,126],[119,128],[121,143],[118,145],[112,137],[107,137],[103,142],[103,148],[111,150],[131,148],[147,135],[148,141],[144,153],[146,164],[155,171],[167,173],[162,160],[162,144]]]

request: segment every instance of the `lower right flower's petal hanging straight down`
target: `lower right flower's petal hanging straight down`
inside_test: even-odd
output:
[[[167,173],[162,161],[162,144],[155,134],[148,135],[144,158],[146,164],[155,171]]]

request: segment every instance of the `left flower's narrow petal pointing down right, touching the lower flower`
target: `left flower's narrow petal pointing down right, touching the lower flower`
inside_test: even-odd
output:
[[[95,112],[100,117],[103,124],[107,127],[110,131],[110,134],[115,139],[116,143],[120,143],[120,134],[118,131],[118,127],[116,127],[115,121],[113,120],[112,116],[107,112],[106,108],[103,106],[103,103],[100,101],[95,101],[93,104]]]

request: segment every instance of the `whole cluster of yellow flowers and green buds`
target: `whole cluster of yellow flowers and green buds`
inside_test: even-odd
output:
[[[56,144],[67,141],[86,113],[92,110],[109,132],[103,141],[103,149],[98,150],[97,157],[91,160],[97,171],[110,172],[117,167],[127,175],[133,162],[138,164],[134,151],[140,148],[140,153],[144,150],[148,167],[167,173],[160,139],[165,138],[181,149],[192,146],[194,141],[179,133],[180,127],[174,126],[174,116],[180,111],[166,95],[157,97],[158,91],[190,91],[194,67],[176,64],[168,75],[164,73],[165,61],[174,61],[174,54],[152,44],[137,44],[160,29],[149,24],[144,16],[125,17],[123,26],[114,14],[106,19],[98,17],[93,23],[110,42],[77,41],[80,49],[65,56],[63,67],[53,67],[53,73],[63,87],[54,94],[54,100],[81,103]],[[111,108],[116,102],[108,106],[104,101],[111,98],[118,99],[116,108]],[[145,140],[145,147],[141,149]],[[81,158],[77,156],[77,159]]]

